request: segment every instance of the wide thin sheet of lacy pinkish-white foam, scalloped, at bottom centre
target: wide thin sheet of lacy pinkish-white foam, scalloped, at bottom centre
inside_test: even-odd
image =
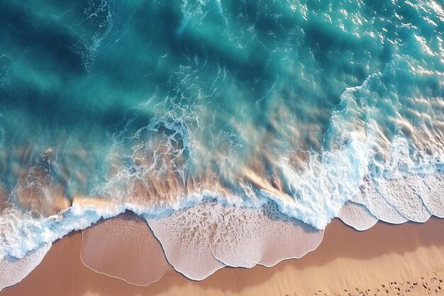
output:
[[[147,221],[174,269],[193,280],[202,280],[224,265],[251,268],[300,258],[323,238],[323,231],[269,216],[262,209],[221,204],[199,204]]]

